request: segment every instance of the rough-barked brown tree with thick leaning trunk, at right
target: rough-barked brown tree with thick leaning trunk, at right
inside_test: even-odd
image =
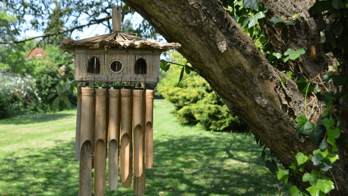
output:
[[[271,149],[286,168],[290,168],[292,160],[295,159],[295,154],[297,155],[298,152],[307,155],[313,153],[319,147],[317,142],[326,138],[326,135],[322,134],[311,135],[311,139],[315,139],[314,143],[307,138],[301,139],[302,135],[296,134],[296,126],[298,126],[296,120],[300,121],[298,116],[306,115],[305,120],[300,121],[304,122],[301,125],[312,126],[307,121],[308,117],[310,117],[308,118],[310,121],[317,123],[322,114],[325,114],[326,107],[321,107],[322,102],[316,106],[307,104],[317,96],[320,100],[320,95],[308,93],[308,86],[304,90],[305,93],[301,93],[293,79],[272,67],[255,46],[253,40],[226,12],[220,1],[164,2],[151,0],[150,2],[125,0],[125,2],[146,18],[168,42],[182,44],[179,52],[207,80],[213,90],[224,100],[230,111],[238,115],[254,130],[255,135]],[[253,7],[254,10],[259,11],[258,1],[245,2],[250,3],[244,4],[245,7]],[[325,2],[332,5],[333,11],[334,9],[337,10],[334,8],[334,1]],[[272,47],[280,42],[283,43],[285,48],[293,47],[294,51],[299,48],[306,48],[309,51],[307,54],[303,54],[303,57],[301,56],[299,62],[292,62],[293,66],[296,67],[294,70],[300,70],[299,73],[307,77],[307,80],[304,79],[304,81],[316,79],[315,76],[320,72],[327,73],[329,65],[335,66],[335,64],[330,63],[335,61],[332,55],[317,50],[319,44],[323,43],[321,38],[317,37],[322,30],[318,24],[322,21],[330,24],[333,21],[329,17],[333,16],[330,13],[323,15],[321,10],[315,10],[317,14],[310,15],[308,10],[313,6],[313,3],[313,1],[298,1],[296,3],[289,1],[260,2],[261,5],[269,6],[268,12],[263,12],[263,14],[269,14],[269,18],[275,16],[293,22],[294,25],[288,27],[288,31],[282,33],[281,28],[280,31],[278,29],[278,34],[274,33],[275,35],[284,34],[283,36],[273,38],[272,36],[275,35],[267,35],[267,32],[276,31],[273,30],[275,27],[272,27],[268,22],[264,22],[264,31],[267,36],[270,36],[268,39]],[[227,5],[229,4],[233,4],[233,2],[227,1]],[[322,5],[320,6],[322,7]],[[289,18],[296,16],[296,14],[299,16],[299,20]],[[251,16],[258,17],[256,14]],[[262,13],[260,13],[261,17]],[[346,25],[343,29],[346,30]],[[317,55],[316,58],[309,56],[313,50]],[[286,51],[282,50],[281,52],[285,53]],[[303,52],[298,51],[298,53]],[[344,70],[340,74],[346,75],[346,60],[341,59],[339,64]],[[320,74],[319,76],[322,77]],[[330,83],[329,85],[333,84]],[[321,86],[321,88],[325,89],[324,86]],[[346,87],[343,86],[343,88]],[[330,91],[328,88],[327,90]],[[342,99],[346,100],[346,92],[342,90],[340,93],[341,96],[339,95],[339,97],[342,97],[343,93]],[[332,100],[334,99],[331,98]],[[342,107],[345,107],[344,104]],[[307,110],[310,112],[308,117]],[[331,112],[339,117],[339,130],[342,132],[341,139],[344,141],[343,143],[346,143],[347,112],[344,112],[344,110],[340,111],[337,108],[337,110],[331,110]],[[329,126],[328,128],[332,127]],[[319,130],[321,130],[319,127],[313,125],[313,134],[320,132]],[[330,132],[327,133],[331,134]],[[314,138],[319,136],[320,138]],[[339,146],[338,148],[340,148],[338,151],[340,159],[336,161],[335,166],[326,175],[335,181],[336,189],[334,193],[336,195],[346,195],[348,194],[348,188],[345,185],[347,184],[346,174],[348,173],[347,147]],[[301,161],[297,165],[302,165]],[[304,168],[304,172],[308,177],[308,174],[311,175],[312,169],[318,167],[314,166],[311,161],[307,161],[304,163]],[[311,184],[313,180],[302,179],[302,175],[303,173],[298,173],[294,176],[303,186],[314,187]],[[315,176],[314,172],[311,177],[313,176]],[[318,187],[314,188],[317,191],[319,184]],[[327,190],[323,191],[327,192]]]

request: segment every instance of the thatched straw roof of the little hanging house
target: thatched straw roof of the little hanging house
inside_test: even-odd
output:
[[[143,39],[124,32],[113,32],[101,36],[90,37],[81,40],[64,39],[59,46],[59,50],[75,50],[77,47],[87,47],[91,49],[104,48],[128,48],[167,51],[177,49],[181,45],[178,43],[159,43]]]

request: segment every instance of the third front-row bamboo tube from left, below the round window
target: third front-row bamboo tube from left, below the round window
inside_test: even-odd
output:
[[[119,89],[109,89],[109,189],[118,186],[118,151],[121,125],[121,100]]]

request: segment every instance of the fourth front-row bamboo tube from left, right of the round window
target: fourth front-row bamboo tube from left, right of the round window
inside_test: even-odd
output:
[[[131,90],[121,89],[120,178],[124,188],[132,184],[132,112]]]

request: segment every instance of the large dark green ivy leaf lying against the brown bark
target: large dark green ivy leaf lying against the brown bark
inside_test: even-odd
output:
[[[324,133],[324,130],[320,126],[315,126],[313,122],[308,122],[306,116],[303,114],[297,116],[295,121],[297,122],[297,133],[308,135],[315,144],[319,142]]]

